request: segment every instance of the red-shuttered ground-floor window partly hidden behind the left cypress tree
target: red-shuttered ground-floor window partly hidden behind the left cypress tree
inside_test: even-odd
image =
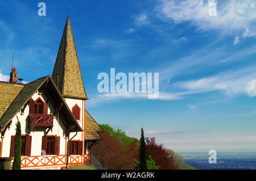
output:
[[[31,141],[32,141],[32,136],[22,136],[22,146],[21,146],[22,156],[31,155]],[[15,150],[15,136],[11,136],[10,157],[14,157],[14,150]]]

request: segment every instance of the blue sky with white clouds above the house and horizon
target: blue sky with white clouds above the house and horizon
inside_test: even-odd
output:
[[[175,151],[256,150],[254,1],[0,0],[0,81],[51,75],[67,11],[98,123]],[[210,3],[217,3],[209,15]],[[97,75],[159,73],[159,98],[101,94]]]

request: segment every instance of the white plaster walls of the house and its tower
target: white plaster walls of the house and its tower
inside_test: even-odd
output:
[[[46,94],[39,95],[38,92],[35,93],[35,95],[32,96],[33,100],[36,100],[40,97],[44,102],[47,101]],[[85,110],[85,100],[76,100],[76,99],[65,99],[65,101],[68,104],[68,107],[70,110],[72,110],[72,107],[76,104],[81,108],[80,111],[80,120],[77,120],[80,127],[84,129],[84,110]],[[2,145],[2,157],[9,157],[10,156],[10,144],[11,144],[11,136],[15,135],[15,129],[16,129],[16,123],[17,123],[17,116],[21,124],[21,130],[22,134],[26,134],[27,132],[27,123],[28,123],[28,114],[29,114],[29,106],[26,107],[24,110],[24,115],[21,115],[20,111],[14,116],[13,123],[11,124],[10,130],[7,129],[5,133],[5,137],[3,138],[3,145]],[[51,101],[48,101],[48,114],[52,114],[55,111],[53,108]],[[56,116],[53,120],[53,129],[52,132],[49,131],[48,135],[56,135],[60,136],[60,155],[65,154],[65,125],[63,123],[63,120],[59,118],[58,123],[58,115],[56,113]],[[31,142],[31,156],[41,155],[41,149],[42,149],[42,137],[44,136],[44,131],[46,131],[46,128],[35,128],[35,131],[31,131],[30,135],[32,136],[32,142]],[[72,138],[75,136],[76,132],[70,133],[69,138]],[[80,140],[84,141],[84,132],[77,132],[77,135],[72,140]],[[83,146],[84,149],[84,146]],[[84,154],[88,153],[87,151],[84,151]]]

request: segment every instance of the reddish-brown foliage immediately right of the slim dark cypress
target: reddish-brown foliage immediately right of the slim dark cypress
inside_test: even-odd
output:
[[[160,166],[159,169],[178,169],[174,164],[174,159],[166,149],[164,149],[163,144],[157,144],[155,137],[146,138],[146,150],[147,159],[151,157],[155,161],[155,165]]]

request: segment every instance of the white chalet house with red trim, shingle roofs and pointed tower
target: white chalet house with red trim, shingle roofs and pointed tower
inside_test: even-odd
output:
[[[51,76],[0,82],[0,157],[14,156],[16,123],[22,130],[22,169],[61,169],[90,162],[102,129],[85,110],[88,99],[69,17]],[[13,161],[12,161],[13,162]]]

